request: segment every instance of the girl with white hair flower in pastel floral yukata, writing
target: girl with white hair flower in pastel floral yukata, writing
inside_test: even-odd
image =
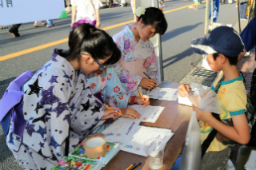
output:
[[[146,90],[154,89],[158,83],[154,45],[149,38],[153,38],[155,34],[164,34],[167,22],[158,8],[138,7],[135,14],[138,22],[134,22],[134,26],[126,25],[113,37],[114,42],[122,51],[122,58],[114,64],[114,69],[126,93],[139,96],[137,90],[139,86],[145,94]]]

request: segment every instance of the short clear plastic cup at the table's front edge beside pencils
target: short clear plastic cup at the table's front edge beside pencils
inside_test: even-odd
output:
[[[166,148],[166,141],[161,138],[150,138],[144,143],[144,151],[149,160],[149,166],[152,169],[162,168],[164,150]]]

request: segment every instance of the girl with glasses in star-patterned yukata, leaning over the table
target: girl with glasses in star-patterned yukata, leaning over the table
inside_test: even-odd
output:
[[[10,125],[6,143],[24,169],[52,168],[98,121],[118,117],[115,110],[121,113],[115,107],[105,109],[85,77],[119,60],[121,52],[113,39],[83,23],[70,33],[69,47],[54,49],[52,59],[23,85],[26,126],[18,136]]]

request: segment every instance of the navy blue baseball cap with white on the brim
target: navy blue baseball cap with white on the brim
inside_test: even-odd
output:
[[[236,30],[219,26],[208,36],[192,40],[191,47],[195,53],[222,53],[228,57],[238,57],[244,49],[244,44]]]

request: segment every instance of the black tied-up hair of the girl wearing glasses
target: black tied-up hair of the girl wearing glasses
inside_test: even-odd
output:
[[[109,34],[87,23],[79,24],[71,31],[68,44],[70,49],[67,51],[60,49],[55,51],[58,55],[65,57],[67,61],[74,59],[80,61],[80,53],[82,51],[90,53],[96,60],[111,56],[104,63],[105,65],[112,65],[118,62],[122,56],[120,49]]]

